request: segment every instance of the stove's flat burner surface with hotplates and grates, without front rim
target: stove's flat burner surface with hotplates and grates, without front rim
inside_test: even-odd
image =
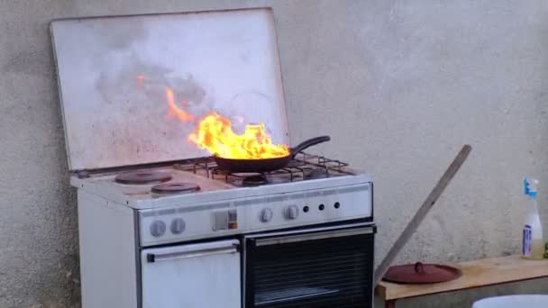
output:
[[[348,164],[323,156],[299,154],[286,168],[263,173],[233,173],[217,167],[212,157],[189,159],[168,167],[110,172],[90,181],[116,187],[124,195],[160,197],[238,187],[269,186],[354,175]]]

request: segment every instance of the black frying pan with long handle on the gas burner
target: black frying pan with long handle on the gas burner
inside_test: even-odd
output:
[[[309,140],[305,140],[297,145],[297,147],[289,149],[289,155],[282,156],[273,159],[224,159],[215,156],[215,162],[217,166],[224,171],[228,172],[269,172],[284,168],[288,165],[291,159],[307,149],[318,143],[331,140],[329,136],[315,137]]]

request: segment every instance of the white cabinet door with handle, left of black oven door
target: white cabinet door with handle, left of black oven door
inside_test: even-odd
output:
[[[237,240],[142,250],[143,308],[242,308]]]

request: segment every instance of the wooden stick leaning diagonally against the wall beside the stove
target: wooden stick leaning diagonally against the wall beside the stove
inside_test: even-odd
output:
[[[452,178],[455,174],[457,174],[457,171],[459,171],[464,161],[468,158],[471,150],[472,148],[470,145],[463,146],[457,157],[453,159],[449,168],[445,170],[445,173],[443,173],[443,176],[440,178],[436,186],[434,186],[434,189],[430,192],[430,195],[426,197],[423,205],[421,205],[418,209],[413,219],[411,219],[411,222],[407,224],[406,229],[400,234],[392,248],[388,251],[387,256],[382,260],[382,262],[380,262],[377,270],[375,270],[373,280],[374,285],[378,285],[382,277],[387,273],[390,264],[392,264],[399,251],[406,246],[407,240],[409,240],[413,233],[415,233],[418,226],[425,219],[426,214],[432,209],[440,195],[443,194],[443,190],[445,190],[445,187],[449,185],[449,182],[451,182]]]

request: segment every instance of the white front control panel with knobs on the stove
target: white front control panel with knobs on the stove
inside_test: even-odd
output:
[[[236,198],[140,211],[142,246],[370,217],[372,186]]]

